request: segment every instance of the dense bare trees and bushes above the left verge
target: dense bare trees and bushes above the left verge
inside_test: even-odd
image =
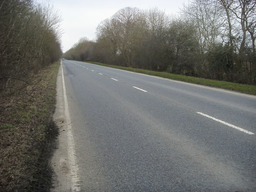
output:
[[[35,83],[39,69],[62,55],[61,17],[49,3],[0,2],[0,94]]]

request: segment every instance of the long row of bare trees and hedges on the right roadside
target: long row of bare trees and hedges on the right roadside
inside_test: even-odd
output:
[[[191,0],[176,16],[126,7],[64,57],[256,85],[255,29],[255,0]]]

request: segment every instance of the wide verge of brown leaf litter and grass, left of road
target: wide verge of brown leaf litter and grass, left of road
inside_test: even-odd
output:
[[[36,75],[32,94],[0,97],[0,191],[45,192],[58,130],[52,121],[59,62]]]

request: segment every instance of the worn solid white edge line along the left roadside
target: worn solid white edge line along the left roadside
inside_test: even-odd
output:
[[[69,158],[69,164],[70,164],[70,175],[71,175],[71,183],[72,186],[71,190],[72,192],[79,192],[80,191],[80,178],[78,176],[78,165],[76,161],[76,150],[74,146],[74,138],[72,134],[72,126],[71,126],[71,120],[70,115],[68,111],[68,99],[66,95],[66,87],[65,87],[65,81],[64,81],[64,74],[63,74],[63,68],[61,64],[62,69],[62,84],[63,84],[63,97],[64,97],[64,106],[65,106],[65,116],[67,121],[67,140],[68,140],[68,158]]]

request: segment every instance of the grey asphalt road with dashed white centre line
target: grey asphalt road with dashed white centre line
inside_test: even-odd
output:
[[[256,97],[62,61],[73,191],[256,191]]]

